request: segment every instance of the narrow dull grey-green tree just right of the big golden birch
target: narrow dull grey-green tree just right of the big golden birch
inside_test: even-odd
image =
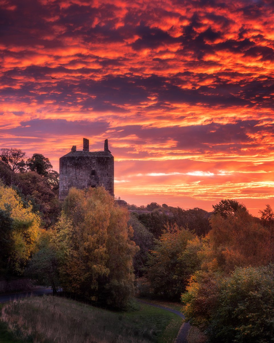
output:
[[[133,228],[133,241],[139,246],[139,251],[133,258],[133,267],[136,276],[144,274],[145,265],[148,261],[149,250],[153,246],[153,235],[139,222],[134,214],[130,215],[128,225]]]

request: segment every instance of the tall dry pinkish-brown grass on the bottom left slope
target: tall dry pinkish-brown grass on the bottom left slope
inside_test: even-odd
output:
[[[22,340],[34,343],[148,343],[123,314],[52,296],[30,297],[3,306],[0,320]]]

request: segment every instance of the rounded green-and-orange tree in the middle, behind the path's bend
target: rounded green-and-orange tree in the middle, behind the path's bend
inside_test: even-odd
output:
[[[200,245],[189,230],[167,227],[148,262],[148,279],[155,295],[179,299],[189,276],[200,268]]]

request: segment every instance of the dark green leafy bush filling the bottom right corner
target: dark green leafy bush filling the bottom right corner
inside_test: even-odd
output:
[[[273,342],[273,266],[237,268],[220,280],[218,293],[207,329],[210,342]]]

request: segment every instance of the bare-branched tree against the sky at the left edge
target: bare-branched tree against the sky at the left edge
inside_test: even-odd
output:
[[[25,162],[24,157],[26,153],[21,149],[16,148],[2,148],[0,159],[3,163],[5,163],[11,171],[24,171]]]

